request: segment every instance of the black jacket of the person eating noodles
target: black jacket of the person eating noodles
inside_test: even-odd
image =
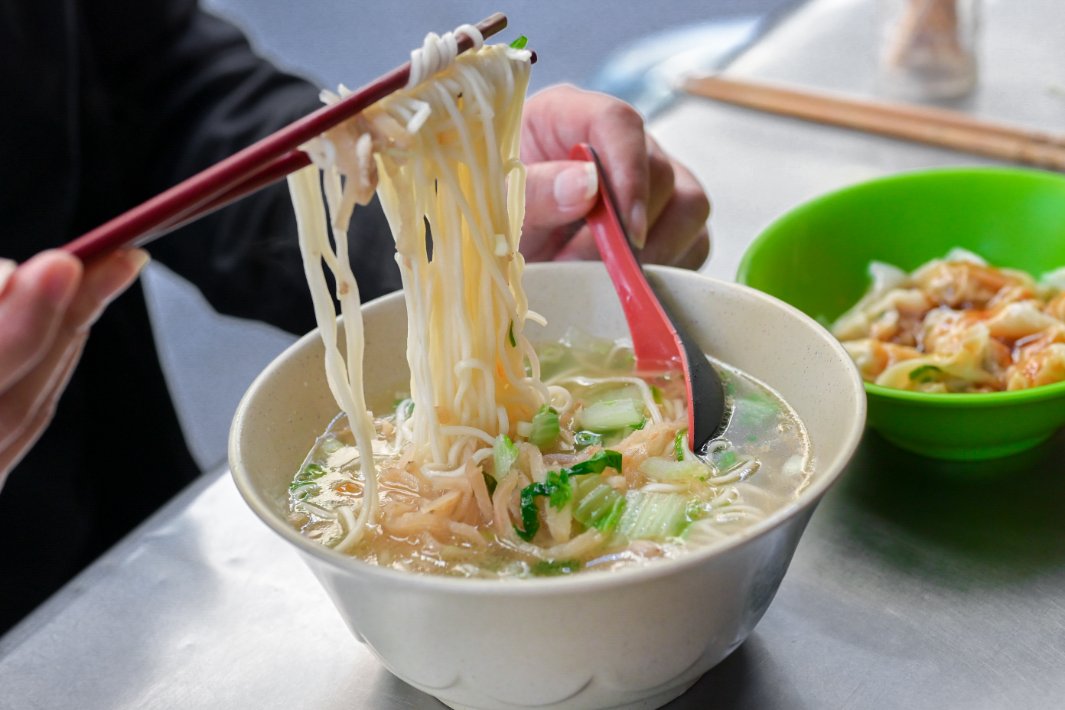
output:
[[[0,255],[59,246],[317,106],[195,0],[0,0]],[[363,298],[398,287],[357,211]],[[313,327],[283,184],[150,246],[219,311]],[[138,286],[0,494],[0,632],[195,478]]]

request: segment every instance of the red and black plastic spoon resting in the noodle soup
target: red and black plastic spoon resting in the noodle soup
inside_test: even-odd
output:
[[[644,276],[595,150],[581,143],[573,148],[570,158],[593,163],[599,175],[600,199],[585,220],[621,299],[633,337],[636,365],[642,370],[681,369],[684,373],[688,390],[688,446],[693,452],[702,453],[707,442],[726,424],[721,378]]]

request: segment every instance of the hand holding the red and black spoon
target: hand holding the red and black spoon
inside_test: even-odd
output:
[[[599,152],[622,219],[643,246],[643,261],[687,268],[706,261],[710,203],[694,176],[661,151],[630,105],[573,86],[543,90],[525,106],[522,251],[527,259],[599,259],[594,238],[580,222],[595,202],[595,172],[568,160],[578,143]]]

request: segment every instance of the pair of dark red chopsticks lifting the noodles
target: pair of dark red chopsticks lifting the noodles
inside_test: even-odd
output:
[[[507,27],[507,17],[495,13],[477,23],[489,37]],[[473,46],[458,34],[459,52]],[[208,212],[259,189],[309,163],[297,148],[364,111],[407,85],[410,62],[378,77],[337,103],[323,106],[244,150],[197,172],[174,187],[142,202],[66,244],[63,249],[82,261],[122,246],[140,246]]]

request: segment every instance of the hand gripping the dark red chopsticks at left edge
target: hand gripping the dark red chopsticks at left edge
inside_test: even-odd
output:
[[[0,488],[51,420],[88,327],[147,259],[138,249],[87,267],[62,251],[17,268],[0,259]]]

